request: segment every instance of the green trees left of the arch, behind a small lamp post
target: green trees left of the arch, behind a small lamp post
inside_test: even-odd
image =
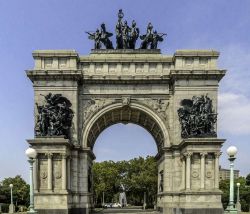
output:
[[[1,181],[0,201],[10,203],[10,184],[13,184],[13,203],[16,205],[29,205],[29,185],[20,175],[14,178],[5,178]]]

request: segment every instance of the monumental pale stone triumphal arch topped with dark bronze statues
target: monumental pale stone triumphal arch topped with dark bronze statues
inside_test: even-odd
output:
[[[95,141],[113,124],[135,123],[148,130],[158,148],[158,212],[223,213],[219,156],[225,140],[217,138],[216,119],[225,70],[217,67],[219,53],[161,54],[157,45],[164,35],[151,23],[135,49],[139,30],[133,21],[126,32],[122,18],[120,10],[116,49],[102,24],[88,33],[95,42],[89,55],[33,52],[35,65],[27,76],[34,87],[35,137],[28,143],[38,152],[36,210],[90,213]]]

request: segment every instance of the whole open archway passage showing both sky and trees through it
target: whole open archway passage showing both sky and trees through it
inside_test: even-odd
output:
[[[147,208],[154,208],[157,147],[147,130],[131,123],[114,124],[101,132],[93,152],[96,156],[92,167],[95,208],[103,205],[127,208],[129,205],[140,211],[144,195]]]

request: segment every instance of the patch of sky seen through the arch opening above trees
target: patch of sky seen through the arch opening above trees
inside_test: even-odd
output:
[[[118,123],[101,132],[96,139],[93,153],[96,162],[123,161],[155,156],[157,146],[152,135],[143,127],[133,123]]]

